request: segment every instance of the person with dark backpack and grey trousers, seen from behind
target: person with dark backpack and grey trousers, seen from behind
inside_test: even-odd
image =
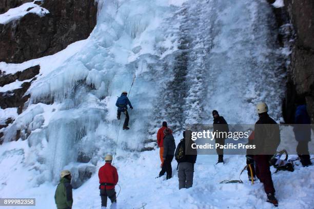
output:
[[[193,174],[194,174],[194,164],[197,160],[197,150],[196,149],[189,149],[191,148],[192,143],[191,140],[191,131],[187,131],[190,133],[183,132],[183,139],[181,139],[180,143],[184,145],[184,157],[180,162],[178,162],[178,178],[179,178],[179,190],[189,187],[193,185]],[[185,153],[187,149],[185,149],[185,145],[188,147],[188,153]],[[179,148],[179,144],[178,144]],[[175,156],[177,156],[179,149],[176,149]],[[191,152],[191,153],[190,153]]]

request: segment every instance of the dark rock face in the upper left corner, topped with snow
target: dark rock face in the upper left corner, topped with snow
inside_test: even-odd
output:
[[[96,25],[94,0],[45,0],[41,6],[50,13],[43,17],[28,13],[18,21],[0,24],[0,61],[21,63],[54,54],[87,38]]]

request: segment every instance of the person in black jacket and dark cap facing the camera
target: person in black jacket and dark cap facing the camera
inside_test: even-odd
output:
[[[218,143],[220,145],[225,145],[225,139],[227,138],[229,127],[228,123],[224,119],[223,116],[220,116],[217,110],[212,111],[213,116],[213,131],[217,131],[218,133],[221,133],[218,137],[215,137],[215,143]],[[217,163],[224,163],[224,149],[221,149],[218,147],[216,149],[218,154],[218,162]],[[216,164],[217,164],[216,163]]]

